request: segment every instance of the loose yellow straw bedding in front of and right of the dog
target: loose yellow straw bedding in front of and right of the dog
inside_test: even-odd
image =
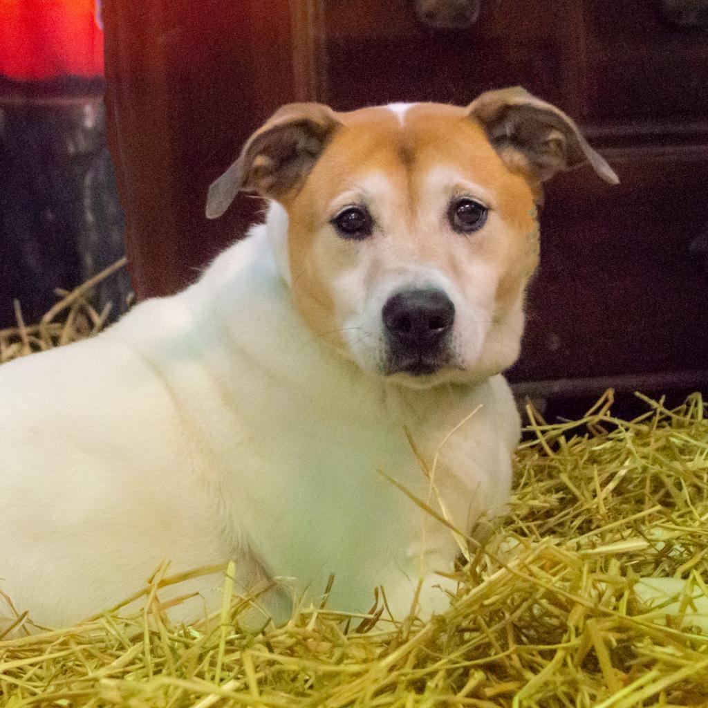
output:
[[[173,627],[162,569],[149,612],[0,639],[0,704],[707,706],[706,406],[699,394],[673,411],[646,399],[627,422],[611,404],[608,393],[556,425],[530,411],[510,518],[472,549],[450,610],[428,624],[314,608],[243,634],[227,580],[221,612]]]

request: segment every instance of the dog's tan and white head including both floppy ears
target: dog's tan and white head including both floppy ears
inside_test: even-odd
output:
[[[316,334],[401,384],[470,382],[517,358],[541,184],[585,162],[617,182],[568,116],[523,89],[467,108],[292,104],[211,185],[207,216],[239,190],[278,202]]]

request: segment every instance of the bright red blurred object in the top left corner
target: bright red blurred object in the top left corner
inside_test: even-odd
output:
[[[96,0],[0,0],[0,74],[30,81],[103,76]]]

